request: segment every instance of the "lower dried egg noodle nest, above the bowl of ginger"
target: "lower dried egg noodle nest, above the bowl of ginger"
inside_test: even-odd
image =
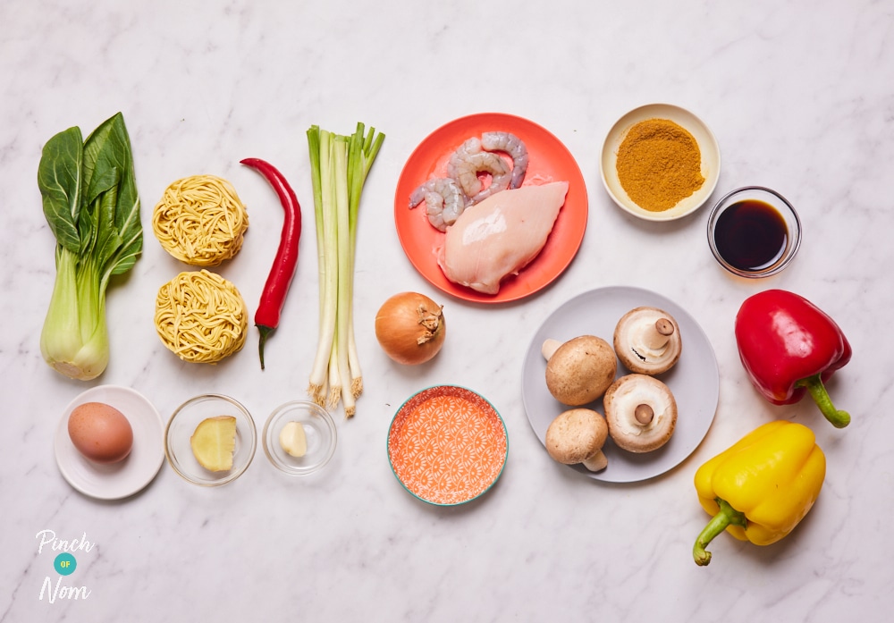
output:
[[[216,363],[245,344],[249,315],[231,282],[202,270],[178,274],[158,290],[155,321],[177,357]]]

